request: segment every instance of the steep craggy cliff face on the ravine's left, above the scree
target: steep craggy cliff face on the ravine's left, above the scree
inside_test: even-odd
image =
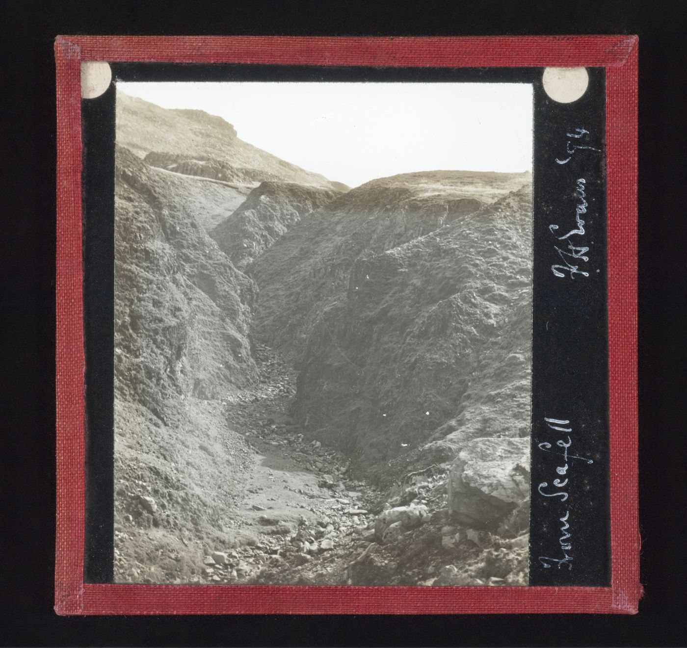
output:
[[[187,187],[117,148],[115,390],[161,413],[257,379],[256,286],[184,208]],[[181,178],[183,183],[183,178]]]

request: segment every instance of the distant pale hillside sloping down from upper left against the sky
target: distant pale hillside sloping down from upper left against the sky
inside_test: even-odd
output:
[[[160,108],[117,92],[117,143],[167,170],[255,186],[262,181],[340,187],[239,139],[232,124],[203,111]]]

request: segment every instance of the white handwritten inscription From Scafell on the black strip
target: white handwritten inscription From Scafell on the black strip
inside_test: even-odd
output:
[[[544,419],[548,428],[556,430],[556,432],[572,432],[572,427],[570,426],[570,420],[568,419],[552,419],[546,417]],[[563,435],[559,435],[563,437]],[[552,452],[552,454],[558,454],[561,456],[559,465],[556,466],[556,478],[549,484],[548,481],[543,481],[537,487],[537,492],[542,497],[558,498],[561,502],[566,502],[570,497],[570,477],[567,476],[568,469],[570,467],[569,462],[572,463],[574,460],[583,461],[584,463],[594,463],[592,459],[585,459],[583,456],[577,456],[576,454],[570,454],[568,448],[572,445],[572,439],[570,435],[565,435],[565,438],[560,438],[556,441],[555,446],[548,441],[543,441],[538,443],[537,447],[543,452]],[[559,569],[561,566],[565,565],[568,570],[572,569],[572,533],[568,531],[570,529],[570,510],[567,507],[562,509],[562,515],[558,518],[561,525],[559,529],[561,530],[561,536],[559,537],[559,557],[549,557],[549,556],[539,556],[539,562],[545,568],[551,568],[556,565]],[[568,553],[570,552],[570,553]]]

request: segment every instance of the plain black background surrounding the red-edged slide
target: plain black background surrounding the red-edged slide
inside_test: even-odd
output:
[[[4,645],[683,646],[687,412],[687,4],[5,1],[2,325]],[[9,34],[8,34],[9,32]],[[639,34],[640,507],[637,616],[60,618],[53,610],[57,34]],[[8,38],[9,36],[9,38]]]

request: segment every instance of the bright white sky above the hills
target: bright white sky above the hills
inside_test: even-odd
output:
[[[356,187],[432,170],[532,170],[524,83],[119,82],[164,108],[199,108],[238,137]]]

